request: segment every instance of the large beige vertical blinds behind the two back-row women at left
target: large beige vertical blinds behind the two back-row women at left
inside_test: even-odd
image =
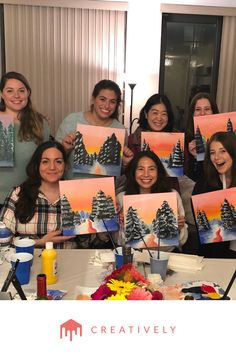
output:
[[[122,88],[124,11],[5,5],[4,21],[6,71],[29,80],[53,135],[70,112],[88,110],[99,80]]]

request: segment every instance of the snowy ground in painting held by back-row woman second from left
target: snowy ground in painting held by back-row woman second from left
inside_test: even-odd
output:
[[[102,176],[120,176],[121,166],[116,165],[101,165],[99,162],[95,162],[91,165],[74,165],[73,172],[75,173],[89,173],[92,175]]]

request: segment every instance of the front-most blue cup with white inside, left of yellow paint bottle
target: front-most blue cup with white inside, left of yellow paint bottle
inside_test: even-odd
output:
[[[30,281],[30,269],[33,255],[30,253],[14,253],[11,256],[11,265],[15,266],[15,263],[19,259],[19,263],[16,269],[16,277],[21,285],[28,284]]]

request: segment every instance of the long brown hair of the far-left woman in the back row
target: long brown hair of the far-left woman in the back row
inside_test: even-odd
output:
[[[23,140],[34,140],[37,144],[40,144],[43,141],[43,122],[46,119],[41,113],[37,112],[31,103],[31,87],[27,79],[20,73],[15,71],[10,71],[4,74],[0,81],[0,91],[4,90],[4,87],[8,80],[15,79],[26,87],[29,92],[27,105],[18,112],[18,118],[20,121],[19,129],[19,139]],[[6,104],[1,98],[0,101],[0,111],[5,112]]]

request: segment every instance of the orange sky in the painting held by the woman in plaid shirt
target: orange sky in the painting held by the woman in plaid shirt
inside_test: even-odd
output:
[[[115,205],[115,186],[113,177],[86,178],[60,181],[60,195],[66,195],[74,211],[91,211],[92,198],[99,190],[111,196]]]

